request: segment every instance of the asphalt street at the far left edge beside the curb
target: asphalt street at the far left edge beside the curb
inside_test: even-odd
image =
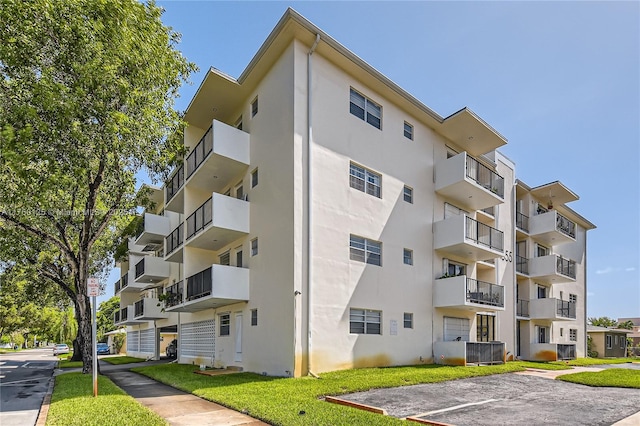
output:
[[[51,348],[0,355],[0,424],[35,425],[57,358]]]

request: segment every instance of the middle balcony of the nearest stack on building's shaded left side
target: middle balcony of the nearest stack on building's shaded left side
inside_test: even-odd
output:
[[[249,202],[213,193],[187,218],[186,245],[218,250],[249,233]]]

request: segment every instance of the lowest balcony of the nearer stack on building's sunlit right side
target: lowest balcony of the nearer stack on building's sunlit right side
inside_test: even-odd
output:
[[[433,306],[470,311],[503,311],[504,287],[467,278],[441,278],[433,286]]]

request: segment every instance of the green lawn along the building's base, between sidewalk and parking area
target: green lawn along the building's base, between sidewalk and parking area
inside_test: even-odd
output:
[[[523,371],[517,363],[484,367],[421,365],[363,368],[303,377],[277,378],[254,373],[220,376],[193,374],[197,366],[162,364],[133,368],[160,382],[245,412],[275,425],[406,425],[399,419],[322,401],[374,388],[437,383],[467,377]]]

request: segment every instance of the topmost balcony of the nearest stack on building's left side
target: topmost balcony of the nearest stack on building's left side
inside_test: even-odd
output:
[[[249,166],[249,134],[214,120],[186,160],[186,184],[220,192]]]

